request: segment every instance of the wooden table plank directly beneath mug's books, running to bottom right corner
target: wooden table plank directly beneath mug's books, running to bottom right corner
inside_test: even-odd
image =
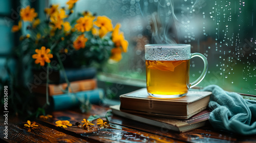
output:
[[[143,130],[145,132],[150,132],[150,133],[154,133],[161,136],[175,138],[182,141],[191,141],[191,142],[237,142],[237,141],[253,142],[255,141],[256,142],[255,135],[243,136],[243,135],[227,133],[224,131],[217,131],[217,130],[214,130],[209,123],[202,128],[187,131],[184,133],[177,133],[165,128],[158,128],[151,125],[131,121],[127,118],[119,117],[116,115],[112,117],[111,122],[114,124],[134,128],[136,130]]]

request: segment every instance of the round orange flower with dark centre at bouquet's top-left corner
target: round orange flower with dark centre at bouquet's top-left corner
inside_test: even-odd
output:
[[[33,19],[37,16],[34,8],[30,9],[30,6],[23,8],[20,10],[20,16],[24,21],[33,21]]]

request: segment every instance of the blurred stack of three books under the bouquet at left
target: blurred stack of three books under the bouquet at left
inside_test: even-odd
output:
[[[50,110],[70,109],[87,100],[98,104],[103,99],[103,89],[97,88],[95,68],[66,69],[65,74],[61,71],[54,73],[49,77],[48,87],[46,83],[42,83],[32,89],[39,106],[46,104],[47,88]],[[69,87],[65,77],[70,83]]]

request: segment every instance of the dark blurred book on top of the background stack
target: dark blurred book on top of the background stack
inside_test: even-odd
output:
[[[66,69],[66,76],[69,82],[79,81],[85,79],[93,79],[96,76],[95,68],[81,68],[81,69]],[[65,83],[65,75],[59,71],[59,83]]]

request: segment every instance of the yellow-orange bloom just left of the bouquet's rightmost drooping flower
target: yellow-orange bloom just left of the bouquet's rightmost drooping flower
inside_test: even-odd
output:
[[[106,16],[98,16],[94,24],[99,27],[99,36],[103,37],[106,33],[113,30],[111,19]]]

